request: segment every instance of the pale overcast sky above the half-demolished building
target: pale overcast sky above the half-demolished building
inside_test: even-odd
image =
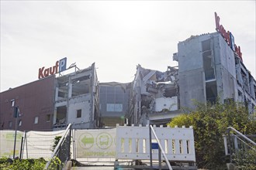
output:
[[[99,82],[130,82],[139,63],[165,71],[178,65],[178,42],[215,32],[214,12],[255,78],[255,1],[1,0],[0,91],[64,57],[80,69],[95,62]]]

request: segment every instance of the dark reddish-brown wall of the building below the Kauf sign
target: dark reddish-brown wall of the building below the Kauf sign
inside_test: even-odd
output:
[[[52,131],[54,76],[0,93],[0,130]],[[18,117],[14,117],[19,107]]]

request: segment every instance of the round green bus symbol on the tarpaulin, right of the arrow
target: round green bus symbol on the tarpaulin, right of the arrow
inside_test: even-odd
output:
[[[107,132],[98,134],[96,138],[96,145],[102,149],[109,148],[112,145],[112,136]]]

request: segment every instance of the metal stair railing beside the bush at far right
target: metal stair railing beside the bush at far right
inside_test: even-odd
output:
[[[230,131],[234,131],[236,134],[230,134]],[[232,155],[237,151],[247,151],[248,149],[256,151],[256,143],[248,137],[256,138],[256,135],[241,134],[233,127],[227,128],[227,136],[223,136],[223,140],[225,146],[225,153],[226,155],[230,155],[230,162],[232,162]]]

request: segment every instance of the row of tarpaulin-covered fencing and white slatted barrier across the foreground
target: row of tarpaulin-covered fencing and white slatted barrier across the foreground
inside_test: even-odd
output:
[[[71,130],[71,158],[79,162],[115,162],[149,159],[149,127],[117,126],[110,129]],[[154,127],[169,160],[195,162],[192,128]],[[54,138],[64,131],[17,131],[15,157],[44,158],[53,154]],[[0,157],[12,158],[15,131],[0,131]],[[152,136],[152,142],[155,138]],[[157,160],[157,150],[152,150]]]

